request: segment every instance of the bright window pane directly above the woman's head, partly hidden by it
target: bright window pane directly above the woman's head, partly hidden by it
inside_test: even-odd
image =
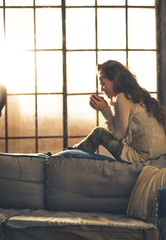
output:
[[[98,63],[102,64],[108,60],[116,60],[126,65],[125,51],[100,51],[98,52]]]

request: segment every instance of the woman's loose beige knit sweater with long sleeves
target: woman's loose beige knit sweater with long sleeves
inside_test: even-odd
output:
[[[113,136],[124,144],[121,159],[130,163],[144,162],[166,154],[166,135],[162,125],[140,104],[124,93],[115,98],[114,106],[102,111]]]

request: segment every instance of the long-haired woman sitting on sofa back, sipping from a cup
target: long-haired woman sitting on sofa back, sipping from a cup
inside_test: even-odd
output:
[[[116,159],[129,163],[166,154],[166,111],[158,101],[117,61],[99,65],[99,80],[110,106],[104,98],[94,95],[90,97],[90,106],[101,111],[107,129],[93,129],[74,147],[95,152],[103,145]]]

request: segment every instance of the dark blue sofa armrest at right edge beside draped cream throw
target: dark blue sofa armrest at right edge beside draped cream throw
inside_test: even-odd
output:
[[[158,190],[158,219],[166,218],[166,186]]]

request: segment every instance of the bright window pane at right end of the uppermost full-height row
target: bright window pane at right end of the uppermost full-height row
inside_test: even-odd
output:
[[[128,10],[129,48],[139,49],[156,48],[155,23],[156,18],[154,9],[129,9]]]

